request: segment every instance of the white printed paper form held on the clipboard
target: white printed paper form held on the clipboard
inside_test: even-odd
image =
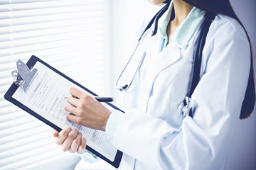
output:
[[[67,126],[78,129],[86,138],[88,146],[113,162],[117,149],[105,140],[105,132],[86,128],[66,119],[68,112],[64,107],[68,105],[66,100],[70,96],[68,90],[71,86],[81,91],[85,90],[53,72],[41,62],[36,62],[34,68],[38,69],[38,74],[31,82],[26,94],[19,87],[12,97],[62,129]],[[114,110],[107,104],[102,104]]]

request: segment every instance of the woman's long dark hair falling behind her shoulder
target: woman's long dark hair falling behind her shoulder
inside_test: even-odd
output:
[[[196,6],[196,8],[200,8],[203,11],[207,11],[210,13],[218,13],[223,14],[225,16],[230,16],[234,18],[242,28],[245,29],[245,26],[242,25],[242,22],[235,14],[233,10],[230,0],[183,0],[191,6]],[[171,0],[166,0],[164,3],[169,3]],[[251,55],[251,65],[250,65],[250,76],[247,83],[247,89],[245,92],[245,99],[242,102],[242,109],[240,114],[240,119],[245,119],[252,114],[255,108],[255,75],[253,69],[253,60],[252,60],[252,44],[250,42],[249,35],[245,29],[245,33],[247,35],[248,41],[250,43],[250,55]]]

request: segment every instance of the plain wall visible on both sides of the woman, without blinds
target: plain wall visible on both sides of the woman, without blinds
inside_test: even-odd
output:
[[[231,0],[231,4],[244,23],[256,54],[256,1],[255,0]],[[112,33],[112,94],[117,76],[124,67],[125,61],[132,52],[137,35],[136,28],[144,16],[152,16],[158,9],[147,0],[112,0],[111,1],[111,33]],[[255,66],[256,67],[256,66]],[[256,115],[247,120],[240,120],[235,140],[232,146],[233,169],[256,169]]]

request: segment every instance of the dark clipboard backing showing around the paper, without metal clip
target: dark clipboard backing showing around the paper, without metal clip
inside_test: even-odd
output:
[[[71,81],[73,84],[76,84],[77,86],[80,86],[80,88],[84,89],[85,91],[92,94],[93,96],[97,96],[97,94],[95,94],[92,91],[90,91],[89,89],[85,88],[85,86],[82,86],[81,84],[74,81],[73,79],[70,79],[70,77],[67,77],[65,74],[63,74],[62,72],[59,72],[57,69],[51,67],[49,64],[47,64],[46,62],[43,62],[42,60],[40,60],[38,57],[36,57],[34,55],[31,56],[31,58],[28,60],[26,65],[28,66],[28,68],[33,68],[33,66],[36,64],[36,62],[41,62],[41,64],[43,64],[46,67],[48,67],[49,69],[53,70],[54,72],[59,74],[61,77],[64,77],[65,79],[68,79],[68,81]],[[16,99],[13,98],[12,96],[14,95],[14,93],[16,92],[17,89],[18,89],[18,86],[15,83],[11,84],[8,91],[6,91],[6,94],[4,94],[4,98],[7,101],[10,101],[11,103],[14,103],[14,105],[18,106],[19,108],[23,109],[23,111],[26,111],[27,113],[29,113],[29,114],[33,115],[34,117],[38,118],[38,120],[41,120],[43,123],[46,123],[47,125],[54,128],[55,130],[58,130],[58,132],[60,132],[62,130],[57,125],[51,123],[49,120],[46,120],[41,115],[38,115],[38,113],[36,113],[36,112],[32,111],[30,108],[24,106],[19,101],[16,101]],[[111,106],[112,108],[114,108],[116,110],[122,111],[119,108],[117,108],[116,106],[114,106],[112,103],[106,103],[106,104]],[[124,111],[122,111],[122,113],[124,113]],[[95,151],[95,149],[92,149],[92,147],[87,146],[86,149],[89,150],[90,152],[92,152],[93,154],[97,155],[97,157],[100,157],[101,159],[105,160],[105,162],[111,164],[115,168],[119,167],[119,164],[120,164],[121,159],[122,159],[122,152],[121,151],[117,150],[117,153],[114,157],[114,162],[112,162],[110,159],[107,159],[102,154]]]

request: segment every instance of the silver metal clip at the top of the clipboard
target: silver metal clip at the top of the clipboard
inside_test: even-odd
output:
[[[33,81],[33,78],[36,77],[38,69],[34,68],[31,71],[31,69],[29,69],[28,66],[21,60],[18,60],[16,65],[17,70],[12,71],[11,76],[14,78],[14,84],[21,87],[21,89],[23,89],[23,91],[26,93],[31,81]]]

